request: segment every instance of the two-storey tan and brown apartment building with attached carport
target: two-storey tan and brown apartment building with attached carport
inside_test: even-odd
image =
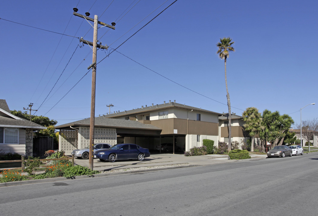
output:
[[[220,113],[178,104],[152,104],[138,109],[117,112],[95,118],[94,143],[135,143],[154,150],[161,143],[175,143],[188,151],[200,147],[204,139],[218,146]],[[90,119],[60,126],[60,150],[67,154],[89,143]]]

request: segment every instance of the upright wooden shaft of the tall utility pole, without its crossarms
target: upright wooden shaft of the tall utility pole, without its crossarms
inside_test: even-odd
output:
[[[97,59],[97,27],[98,16],[94,16],[94,35],[93,35],[93,63]],[[88,168],[93,170],[94,152],[94,126],[95,126],[95,92],[96,92],[96,64],[92,70],[92,99],[91,99],[91,122],[89,126],[89,164]]]

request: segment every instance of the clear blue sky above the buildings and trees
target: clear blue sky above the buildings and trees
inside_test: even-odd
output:
[[[169,100],[228,112],[224,60],[216,54],[223,37],[231,37],[236,49],[227,60],[232,112],[241,115],[254,106],[289,114],[300,123],[300,108],[318,103],[317,1],[178,0],[121,45],[172,2],[2,1],[0,99],[11,110],[23,111],[33,103],[38,112],[32,114],[58,125],[90,117],[92,52],[88,45],[76,49],[80,43],[74,37],[93,41],[93,23],[73,16],[77,6],[78,13],[116,22],[115,30],[98,29],[98,39],[110,47],[97,52],[96,116],[109,112],[108,104],[114,104],[114,112]],[[117,51],[156,73],[116,51],[105,58],[119,45]],[[307,106],[302,120],[317,118],[317,110],[318,104]]]

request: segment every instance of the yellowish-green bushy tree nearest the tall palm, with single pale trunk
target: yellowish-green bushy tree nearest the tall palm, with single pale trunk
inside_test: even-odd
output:
[[[265,128],[262,125],[263,119],[261,118],[261,113],[255,107],[246,108],[242,113],[242,116],[243,121],[245,121],[245,124],[243,125],[244,130],[252,137],[251,152],[253,152],[255,135],[259,134]]]

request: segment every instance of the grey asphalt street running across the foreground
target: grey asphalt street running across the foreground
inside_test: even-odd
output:
[[[318,153],[1,187],[1,215],[317,215]]]

